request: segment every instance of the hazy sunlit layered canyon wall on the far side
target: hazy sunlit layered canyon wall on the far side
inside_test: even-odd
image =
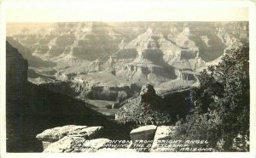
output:
[[[201,68],[248,41],[247,25],[247,22],[57,23],[35,33],[25,29],[9,41],[16,42],[20,50],[28,50],[22,52],[28,52],[30,69],[36,72],[28,74],[30,82],[70,81],[81,99],[96,96],[94,99],[122,101],[116,90],[98,88],[132,84],[142,87],[148,83],[166,91],[195,85]],[[49,72],[54,73],[43,71],[45,67],[52,68],[54,71],[49,69]],[[137,93],[133,89],[128,91],[125,99]]]

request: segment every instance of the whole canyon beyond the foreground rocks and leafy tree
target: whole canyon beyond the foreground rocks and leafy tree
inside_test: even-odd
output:
[[[105,143],[132,140],[131,130],[144,124],[159,126],[154,133],[163,124],[172,131],[177,116],[191,112],[200,72],[248,43],[247,22],[74,22],[32,31],[26,25],[6,42],[9,152],[42,152],[49,140],[36,136],[67,125],[101,127],[95,141]],[[152,119],[158,116],[170,121]],[[61,152],[61,139],[85,141],[63,138],[50,142],[54,150]]]

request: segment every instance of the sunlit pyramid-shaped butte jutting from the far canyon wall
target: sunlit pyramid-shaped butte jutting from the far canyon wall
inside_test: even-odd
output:
[[[163,59],[164,54],[158,42],[160,37],[162,35],[149,28],[148,31],[123,46],[123,50],[137,50],[137,56],[131,62],[127,60],[122,69],[117,70],[117,76],[124,76],[137,84],[145,82],[158,84],[176,78],[173,67]]]

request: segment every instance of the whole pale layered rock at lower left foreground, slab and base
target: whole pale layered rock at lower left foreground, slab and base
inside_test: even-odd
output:
[[[36,138],[42,141],[44,152],[90,152],[100,147],[100,144],[108,142],[108,139],[96,139],[102,134],[103,127],[87,127],[67,125],[54,127],[39,133]],[[90,149],[89,149],[90,148]],[[93,149],[95,148],[95,149]]]

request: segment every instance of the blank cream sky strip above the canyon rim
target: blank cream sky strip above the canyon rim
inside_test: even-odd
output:
[[[247,21],[249,3],[236,0],[3,0],[7,22]]]

